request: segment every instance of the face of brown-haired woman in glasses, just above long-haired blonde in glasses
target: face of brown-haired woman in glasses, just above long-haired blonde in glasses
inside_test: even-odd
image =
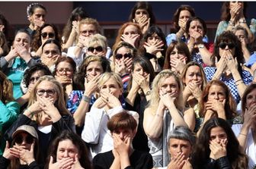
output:
[[[69,64],[67,61],[59,62],[59,64],[56,66],[56,75],[58,77],[69,77],[72,78],[74,75],[74,70],[72,68],[72,65]]]

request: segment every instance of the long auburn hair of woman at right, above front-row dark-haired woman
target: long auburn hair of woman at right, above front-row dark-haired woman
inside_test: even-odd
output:
[[[205,88],[203,89],[201,99],[200,99],[200,104],[199,104],[200,117],[204,117],[204,115],[206,113],[205,105],[206,105],[206,102],[208,101],[210,87],[213,85],[220,86],[220,87],[222,87],[222,89],[224,89],[225,95],[226,95],[226,102],[224,105],[226,118],[229,120],[232,119],[233,117],[235,117],[237,115],[236,111],[235,111],[236,110],[235,100],[229,90],[229,87],[226,86],[226,84],[220,80],[211,80],[209,83],[206,84]]]

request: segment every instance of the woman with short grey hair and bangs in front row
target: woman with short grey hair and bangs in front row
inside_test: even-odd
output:
[[[196,135],[187,127],[175,127],[171,130],[168,139],[169,156],[167,158],[171,160],[167,167],[157,167],[155,169],[192,169],[190,157],[196,144],[196,139]]]

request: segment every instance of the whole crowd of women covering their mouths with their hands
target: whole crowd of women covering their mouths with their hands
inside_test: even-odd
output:
[[[213,42],[190,5],[165,35],[135,2],[113,46],[81,7],[58,30],[30,4],[14,39],[0,14],[0,169],[255,168],[247,3],[222,3]]]

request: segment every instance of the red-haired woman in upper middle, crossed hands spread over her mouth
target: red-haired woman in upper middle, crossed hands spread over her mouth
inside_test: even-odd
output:
[[[123,23],[123,25],[118,30],[113,49],[116,49],[117,44],[121,41],[128,42],[130,45],[133,45],[135,49],[138,49],[140,39],[142,39],[142,31],[140,30],[138,23]]]

